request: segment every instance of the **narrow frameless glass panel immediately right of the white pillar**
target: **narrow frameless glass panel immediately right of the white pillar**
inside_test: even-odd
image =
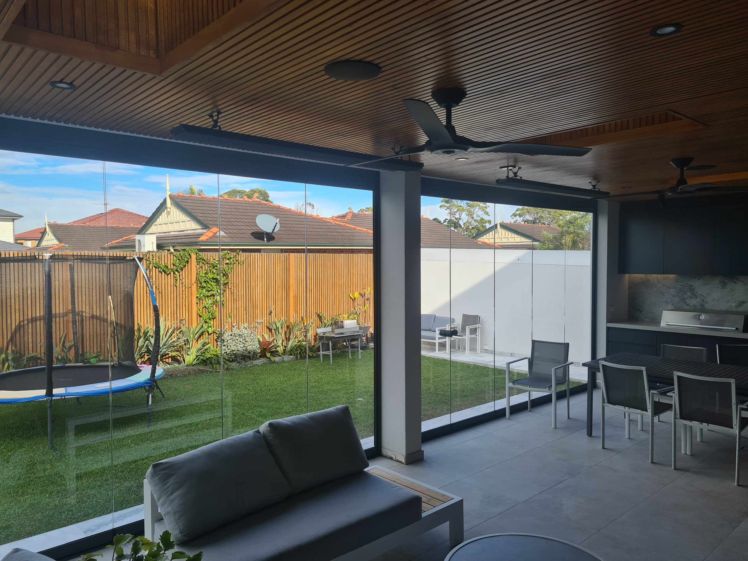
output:
[[[452,313],[453,218],[450,199],[421,197],[421,420],[423,430],[450,424],[453,344],[439,331]]]

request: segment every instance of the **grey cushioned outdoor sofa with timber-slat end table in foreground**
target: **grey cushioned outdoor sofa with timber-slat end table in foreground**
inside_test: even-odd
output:
[[[422,512],[421,496],[383,473],[446,500]],[[445,522],[463,539],[462,499],[369,468],[347,405],[156,462],[144,498],[145,536],[169,530],[206,561],[366,560]]]

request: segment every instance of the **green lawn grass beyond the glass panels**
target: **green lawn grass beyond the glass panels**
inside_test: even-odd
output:
[[[143,502],[148,466],[268,419],[345,403],[361,438],[373,435],[373,351],[361,360],[335,355],[263,364],[223,374],[163,379],[146,427],[145,394],[52,403],[57,450],[46,445],[43,402],[0,406],[0,544],[76,524]],[[494,375],[496,396],[494,397]],[[423,357],[423,419],[501,399],[503,370]],[[221,405],[223,410],[221,411]],[[111,469],[112,463],[114,470]]]

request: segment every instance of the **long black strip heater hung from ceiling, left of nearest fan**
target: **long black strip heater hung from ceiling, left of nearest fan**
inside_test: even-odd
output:
[[[317,160],[344,166],[369,162],[371,159],[377,157],[370,154],[349,152],[348,150],[334,150],[332,148],[280,141],[262,136],[242,135],[238,132],[227,132],[211,129],[206,126],[175,126],[174,129],[171,129],[171,136],[179,141],[194,142],[196,144],[233,148],[234,150],[245,150],[253,153],[272,154],[273,156],[281,156],[283,158]],[[423,168],[423,164],[409,160],[391,159],[370,162],[366,166],[360,167],[385,171],[417,171]]]

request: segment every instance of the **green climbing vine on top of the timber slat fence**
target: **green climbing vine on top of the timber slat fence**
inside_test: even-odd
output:
[[[197,269],[195,272],[195,285],[197,291],[197,316],[205,323],[210,334],[217,330],[213,328],[213,320],[218,317],[218,304],[221,302],[221,278],[223,278],[223,295],[230,284],[231,272],[238,263],[244,263],[239,259],[241,251],[231,253],[221,251],[221,259],[206,257],[194,249],[180,249],[174,253],[171,265],[162,263],[158,254],[150,254],[146,260],[146,266],[156,269],[164,275],[174,277],[174,286],[179,283],[180,275],[191,261],[194,255]],[[220,269],[219,269],[220,268]],[[225,300],[223,302],[225,305]]]

